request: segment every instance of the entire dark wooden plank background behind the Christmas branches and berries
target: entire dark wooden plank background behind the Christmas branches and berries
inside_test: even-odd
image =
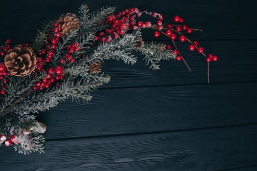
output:
[[[257,170],[254,0],[5,0],[0,42],[31,42],[42,22],[77,12],[81,3],[92,11],[137,6],[163,13],[164,21],[180,15],[203,29],[190,38],[219,56],[210,64],[211,84],[203,57],[179,42],[192,72],[174,61],[158,71],[142,61],[106,62],[111,83],[93,92],[91,102],[67,100],[39,114],[47,125],[46,153],[23,156],[1,146],[1,171]]]

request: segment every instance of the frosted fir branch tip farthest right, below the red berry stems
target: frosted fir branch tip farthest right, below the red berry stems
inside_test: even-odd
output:
[[[145,60],[145,64],[150,65],[149,68],[154,70],[160,69],[161,60],[176,59],[176,55],[172,51],[166,50],[164,43],[145,43],[138,51],[144,56],[143,60]]]

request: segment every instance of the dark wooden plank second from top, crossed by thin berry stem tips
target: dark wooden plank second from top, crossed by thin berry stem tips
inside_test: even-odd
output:
[[[202,44],[219,56],[218,62],[210,63],[211,83],[257,81],[257,41],[204,41]],[[140,56],[135,65],[108,61],[103,64],[102,70],[111,76],[111,82],[105,86],[207,83],[207,63],[204,56],[189,51],[185,44],[178,45],[192,69],[191,72],[183,62],[175,61],[164,61],[160,70],[153,71],[145,66]]]

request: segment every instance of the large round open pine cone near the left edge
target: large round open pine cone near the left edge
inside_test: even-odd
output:
[[[20,45],[7,51],[4,57],[4,64],[13,75],[23,77],[31,74],[37,63],[36,55],[32,48],[23,48]]]

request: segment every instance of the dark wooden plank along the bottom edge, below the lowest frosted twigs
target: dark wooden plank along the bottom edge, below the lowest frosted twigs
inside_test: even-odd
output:
[[[257,126],[46,142],[45,154],[1,147],[3,171],[214,171],[256,164]],[[86,131],[86,130],[85,130]],[[11,157],[6,157],[11,156]]]

